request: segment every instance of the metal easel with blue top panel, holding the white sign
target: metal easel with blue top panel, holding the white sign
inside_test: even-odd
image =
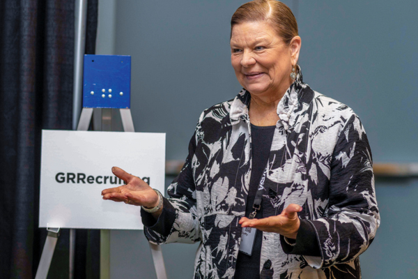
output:
[[[95,84],[98,84],[98,88],[102,88],[100,91],[97,89],[87,89],[84,88],[84,96],[83,96],[83,104],[84,107],[82,109],[82,113],[79,118],[79,123],[77,126],[77,130],[88,130],[88,126],[90,126],[91,119],[93,116],[93,110],[99,112],[101,110],[101,130],[110,131],[111,130],[111,115],[112,110],[119,110],[121,113],[121,120],[123,125],[123,130],[125,132],[134,132],[134,123],[132,121],[132,114],[130,112],[130,56],[102,56],[102,55],[85,55],[84,56],[84,84],[88,84],[89,82],[86,80],[95,79]],[[107,67],[112,67],[112,65],[118,66],[118,63],[121,61],[120,58],[123,57],[123,61],[125,61],[125,68],[127,63],[129,63],[129,71],[125,73],[121,73],[123,71],[118,70],[117,73],[111,72],[110,75],[121,75],[124,76],[121,79],[113,79],[114,82],[112,86],[100,86],[101,82],[104,84],[109,84],[109,81],[106,77],[102,76],[103,68],[100,68],[100,77],[103,80],[98,78],[98,75],[94,75],[94,70],[97,70],[97,66],[95,69],[91,69],[88,66],[86,61],[96,61],[96,65],[101,62],[107,62]],[[110,60],[109,60],[110,59]],[[117,61],[118,63],[114,63]],[[104,65],[103,63],[101,65]],[[90,75],[93,73],[93,75]],[[129,79],[126,80],[125,76],[129,73]],[[116,81],[115,81],[116,80]],[[112,93],[112,87],[121,89],[123,85],[126,88],[126,82],[129,82],[128,89],[121,91],[117,90],[116,92]],[[96,94],[96,95],[95,95]],[[119,96],[123,96],[123,98],[112,98],[118,94]],[[94,96],[95,95],[95,96]],[[100,96],[98,98],[98,96]],[[126,102],[128,100],[128,105],[126,106]],[[121,108],[126,107],[126,108]],[[56,242],[59,238],[59,231],[60,228],[49,228],[47,227],[47,239],[45,241],[44,248],[42,250],[42,256],[40,258],[40,263],[38,266],[38,271],[36,272],[36,279],[43,279],[47,278],[47,273],[49,271],[49,266],[51,265],[52,256],[54,255],[54,250],[56,246]],[[76,230],[70,229],[70,279],[73,278],[73,270],[74,270],[74,260],[75,260],[75,235]],[[153,243],[149,243],[151,255],[153,256],[153,262],[155,267],[155,273],[157,275],[157,279],[167,279],[167,273],[165,270],[164,259],[162,256],[162,250],[160,246],[157,246]],[[101,279],[109,279],[110,278],[110,230],[109,229],[101,229],[100,230],[100,278]]]

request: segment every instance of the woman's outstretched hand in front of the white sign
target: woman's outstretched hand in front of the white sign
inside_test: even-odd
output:
[[[111,172],[125,181],[126,185],[102,190],[103,199],[125,202],[136,206],[152,208],[158,204],[158,194],[153,188],[137,176],[128,174],[119,167],[112,167]]]

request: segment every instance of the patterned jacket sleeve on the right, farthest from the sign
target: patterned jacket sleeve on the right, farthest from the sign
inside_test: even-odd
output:
[[[370,245],[380,225],[369,142],[352,114],[344,124],[330,163],[330,199],[314,226],[321,257],[304,256],[318,269],[350,262]]]

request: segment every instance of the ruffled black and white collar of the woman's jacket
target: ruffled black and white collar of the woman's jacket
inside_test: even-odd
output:
[[[297,66],[297,76],[293,84],[286,90],[283,98],[281,98],[277,105],[277,115],[279,116],[281,123],[284,126],[284,130],[288,130],[293,121],[295,120],[295,110],[299,107],[300,97],[302,96],[302,89],[304,83],[302,80],[302,70],[300,66]],[[235,125],[240,120],[249,121],[248,107],[251,95],[246,89],[242,89],[238,96],[235,97],[231,104],[231,124]]]

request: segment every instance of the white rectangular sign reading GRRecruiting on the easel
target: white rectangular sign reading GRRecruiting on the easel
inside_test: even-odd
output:
[[[42,130],[39,227],[143,229],[139,206],[102,199],[121,167],[164,193],[164,133]]]

